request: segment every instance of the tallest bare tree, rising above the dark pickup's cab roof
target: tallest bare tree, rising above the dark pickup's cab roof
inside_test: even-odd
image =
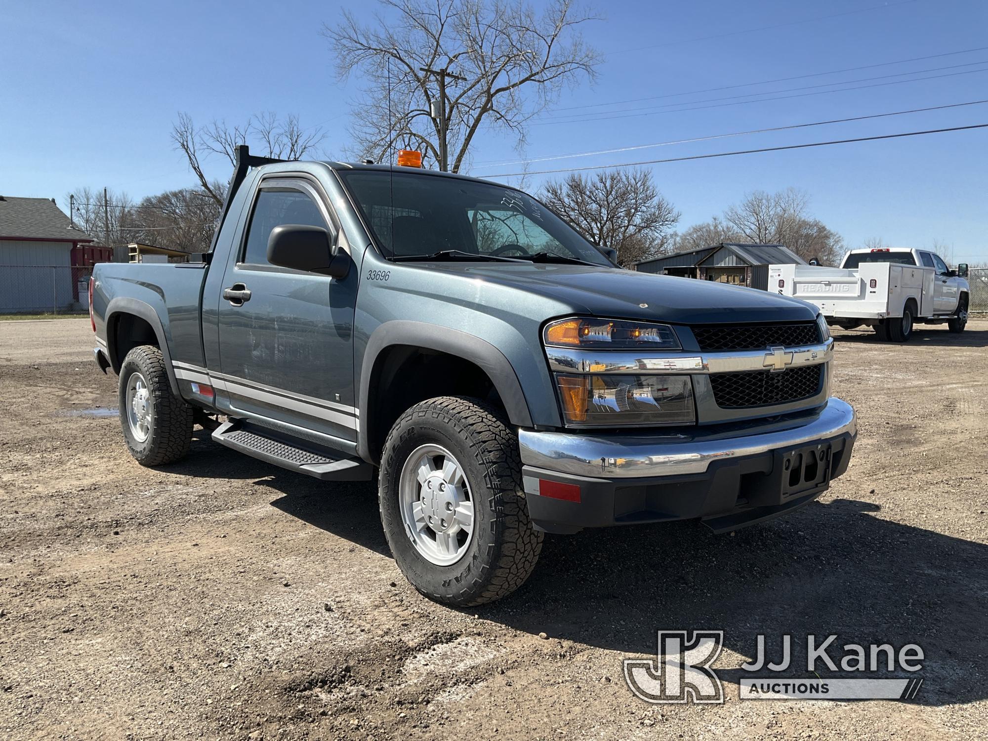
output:
[[[571,0],[541,13],[524,0],[380,2],[389,17],[372,27],[344,11],[322,31],[340,78],[360,71],[366,82],[352,127],[358,156],[383,160],[398,146],[459,172],[481,124],[522,146],[563,86],[595,77],[600,57],[578,29],[595,16]]]

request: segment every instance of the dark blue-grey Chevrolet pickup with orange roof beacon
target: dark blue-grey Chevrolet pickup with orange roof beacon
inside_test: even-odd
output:
[[[855,442],[814,307],[620,270],[531,196],[458,175],[241,147],[203,262],[105,263],[90,290],[139,463],[200,424],[298,473],[376,477],[398,567],[454,606],[517,589],[546,532],[790,512]]]

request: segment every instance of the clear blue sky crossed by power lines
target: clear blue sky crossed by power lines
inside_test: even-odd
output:
[[[585,35],[606,55],[599,79],[566,91],[557,105],[604,104],[565,113],[620,118],[563,124],[549,118],[562,111],[548,112],[530,129],[529,157],[988,99],[988,48],[969,50],[988,47],[988,4],[979,0],[596,5],[605,20],[588,24]],[[324,126],[326,154],[342,156],[360,80],[336,80],[319,30],[345,7],[368,17],[374,10],[368,2],[0,3],[0,193],[54,197],[64,207],[64,195],[79,186],[109,186],[140,198],[192,185],[169,139],[179,111],[198,123],[294,113],[303,125]],[[949,55],[651,104],[619,103],[935,54]],[[919,82],[693,111],[628,111],[948,66],[857,84],[951,75]],[[532,169],[984,123],[988,104],[552,160]],[[810,195],[814,215],[849,246],[872,236],[911,246],[936,239],[951,245],[947,257],[954,261],[988,262],[986,155],[988,129],[974,129],[660,164],[653,171],[682,211],[682,228],[749,191],[794,186]],[[480,166],[517,159],[511,139],[490,133],[477,142],[473,159],[471,174],[483,177],[517,169]],[[220,179],[229,176],[219,160],[209,169]],[[534,176],[532,187],[543,179]]]

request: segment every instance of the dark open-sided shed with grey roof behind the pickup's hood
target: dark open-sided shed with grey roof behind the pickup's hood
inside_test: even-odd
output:
[[[767,290],[769,266],[790,264],[805,265],[806,261],[781,244],[722,242],[645,260],[635,270]]]

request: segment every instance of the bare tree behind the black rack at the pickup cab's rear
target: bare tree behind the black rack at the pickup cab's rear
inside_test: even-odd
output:
[[[252,116],[244,124],[226,124],[213,120],[206,126],[197,126],[189,114],[179,114],[178,121],[172,124],[172,141],[189,162],[189,167],[199,180],[203,192],[222,204],[226,186],[210,180],[204,170],[204,159],[212,154],[225,157],[230,165],[235,161],[234,148],[237,144],[249,144],[251,139],[260,142],[259,153],[277,159],[301,159],[315,149],[326,137],[321,127],[305,129],[298,123],[298,117],[289,114],[280,119],[277,114],[264,113]]]

